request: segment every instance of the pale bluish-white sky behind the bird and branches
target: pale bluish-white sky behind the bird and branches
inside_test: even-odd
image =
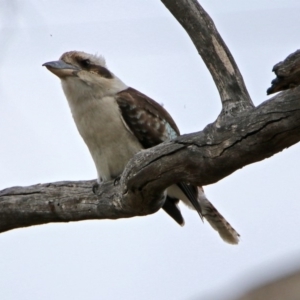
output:
[[[203,0],[256,105],[275,63],[299,49],[298,0]],[[182,133],[221,109],[192,42],[160,1],[0,2],[0,189],[96,178],[60,82],[43,68],[70,50],[103,54]],[[0,299],[224,299],[300,266],[296,145],[206,187],[241,234],[225,244],[185,207],[118,221],[49,224],[0,235]]]

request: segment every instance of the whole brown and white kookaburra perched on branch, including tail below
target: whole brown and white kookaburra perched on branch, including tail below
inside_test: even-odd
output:
[[[127,86],[108,69],[103,56],[68,51],[59,60],[43,66],[61,80],[100,184],[118,179],[137,152],[180,135],[167,110]],[[225,242],[239,242],[239,234],[206,198],[202,187],[180,182],[167,188],[162,208],[183,226],[184,219],[178,207],[180,200],[206,219]]]

